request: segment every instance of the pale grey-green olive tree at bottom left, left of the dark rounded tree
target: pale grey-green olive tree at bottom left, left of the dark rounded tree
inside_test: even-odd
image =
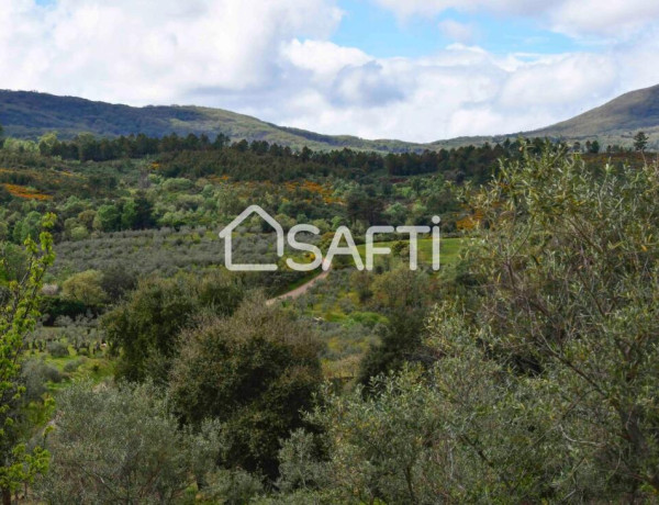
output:
[[[172,503],[214,467],[216,427],[179,429],[153,384],[77,383],[57,403],[53,464],[36,489],[48,503]]]

